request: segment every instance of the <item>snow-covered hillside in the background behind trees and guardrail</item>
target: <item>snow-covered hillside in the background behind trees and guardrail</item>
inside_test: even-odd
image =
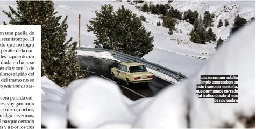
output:
[[[167,1],[152,1],[153,3],[166,4]],[[92,32],[87,32],[86,24],[89,24],[88,20],[95,17],[95,11],[101,8],[101,5],[111,4],[116,10],[118,7],[124,5],[126,8],[132,10],[134,13],[140,16],[143,14],[148,23],[143,22],[143,25],[148,31],[152,32],[154,36],[155,45],[152,52],[144,56],[143,58],[157,63],[159,65],[168,67],[171,70],[181,72],[188,77],[192,75],[196,70],[200,69],[206,62],[209,56],[214,54],[214,44],[195,44],[189,41],[187,33],[191,31],[193,26],[187,22],[179,20],[179,24],[176,25],[178,32],[174,32],[173,35],[168,35],[168,29],[165,27],[157,26],[159,16],[154,16],[147,12],[142,12],[136,9],[135,5],[131,5],[130,2],[123,1],[54,1],[55,10],[58,11],[58,15],[68,16],[68,38],[73,37],[73,41],[79,39],[79,14],[81,14],[81,45],[93,46],[93,41],[96,38]],[[0,8],[9,11],[8,6],[11,5],[16,9],[15,1],[1,1]],[[236,14],[240,14],[241,17],[245,17],[247,20],[255,15],[255,1],[175,1],[170,5],[177,7],[180,11],[186,11],[187,9],[197,9],[202,15],[205,10],[216,13],[219,15],[215,19],[215,26],[220,18],[224,20],[224,17],[229,19],[230,24]],[[237,9],[232,9],[231,13],[227,13],[224,10],[230,9],[235,6]],[[232,8],[232,7],[231,7]],[[0,12],[0,22],[9,21],[4,13]],[[229,26],[231,27],[231,25]],[[214,28],[214,32],[217,36],[227,37],[229,27]],[[181,33],[180,33],[181,31]]]

